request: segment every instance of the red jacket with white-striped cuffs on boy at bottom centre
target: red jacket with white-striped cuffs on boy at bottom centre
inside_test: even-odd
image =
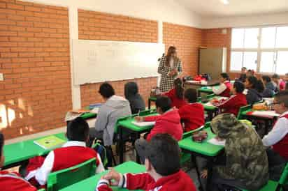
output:
[[[101,180],[96,187],[96,191],[112,191],[108,185],[107,180]],[[141,189],[146,191],[196,191],[192,179],[182,170],[159,178],[157,181],[154,181],[154,178],[148,173],[123,174],[118,187],[127,188],[127,190]]]

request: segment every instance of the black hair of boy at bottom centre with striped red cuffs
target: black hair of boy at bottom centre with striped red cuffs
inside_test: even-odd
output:
[[[145,146],[145,158],[161,176],[169,176],[180,170],[180,148],[171,135],[158,134],[152,137]]]

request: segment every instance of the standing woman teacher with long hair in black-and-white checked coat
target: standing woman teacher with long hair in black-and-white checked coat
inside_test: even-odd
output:
[[[162,56],[158,66],[161,75],[160,90],[162,93],[173,89],[173,82],[182,72],[180,59],[177,57],[176,47],[169,47],[166,56]]]

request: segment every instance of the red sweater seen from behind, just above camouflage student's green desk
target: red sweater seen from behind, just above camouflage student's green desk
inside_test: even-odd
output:
[[[204,107],[200,103],[189,103],[178,110],[181,121],[184,122],[185,132],[195,130],[205,123]]]

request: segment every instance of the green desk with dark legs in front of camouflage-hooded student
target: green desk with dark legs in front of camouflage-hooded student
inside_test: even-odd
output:
[[[213,161],[220,153],[224,152],[224,146],[218,146],[208,143],[208,140],[213,139],[215,135],[211,132],[210,128],[205,128],[208,132],[208,138],[202,142],[197,143],[192,140],[192,137],[186,137],[178,142],[182,152],[191,154],[192,162],[195,164],[196,173],[199,178],[200,186],[203,190],[203,186],[200,178],[199,167],[196,162],[196,156],[200,156],[201,158],[206,158],[208,160],[207,168],[208,168],[208,178],[207,178],[207,188],[206,190],[210,190],[209,186],[212,181],[212,173],[213,173]]]

